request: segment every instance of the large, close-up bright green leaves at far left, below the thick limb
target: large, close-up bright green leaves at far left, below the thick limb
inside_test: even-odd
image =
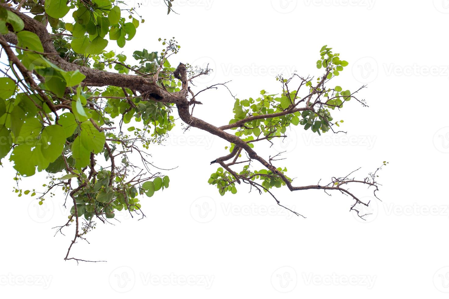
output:
[[[23,21],[4,8],[0,7],[0,21],[9,24],[16,32],[18,46],[17,57],[29,70],[44,77],[44,83],[39,88],[48,90],[55,96],[63,96],[66,88],[70,88],[85,78],[79,71],[63,71],[43,57],[43,47],[39,37],[30,31],[23,30]],[[6,26],[0,26],[0,32],[9,32]],[[22,89],[29,86],[22,85]],[[30,176],[38,170],[44,170],[48,165],[61,156],[66,146],[66,138],[71,136],[77,127],[75,117],[61,117],[58,122],[49,123],[53,120],[48,114],[51,112],[48,102],[42,94],[35,91],[18,92],[18,82],[9,77],[0,78],[0,158],[6,156],[14,146],[10,160],[14,161],[14,168],[23,176]],[[77,89],[72,102],[74,114],[77,118],[88,119],[82,107],[81,89]],[[84,98],[85,101],[85,98]],[[84,102],[85,104],[85,102]],[[92,124],[90,124],[92,125]],[[89,125],[85,125],[89,126]]]

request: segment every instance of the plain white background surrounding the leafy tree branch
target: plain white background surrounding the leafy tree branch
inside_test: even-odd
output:
[[[159,1],[144,1],[139,12],[146,22],[124,53],[132,62],[134,50],[160,50],[159,37],[175,36],[182,47],[172,65],[210,62],[215,70],[194,91],[233,80],[229,87],[239,98],[258,97],[261,89],[279,93],[277,73],[319,76],[321,46],[341,53],[350,65],[335,85],[368,84],[360,96],[370,105],[352,101],[334,112],[345,121],[346,137],[315,137],[295,127],[286,146],[257,148],[266,158],[286,150],[287,159],[276,165],[288,168],[294,185],[327,183],[359,167],[363,179],[389,161],[379,177],[382,202],[374,201],[362,221],[349,212],[352,201],[337,193],[274,190],[307,219],[246,186],[222,197],[207,184],[216,170],[209,161],[226,154],[228,144],[198,129],[184,133],[178,123],[166,146],[150,148],[155,165],[178,166],[165,172],[171,186],[142,199],[145,219],[121,213],[121,223],[98,223],[88,234],[91,244],[77,243],[71,256],[107,263],[77,265],[63,260],[73,227],[66,237],[53,237],[51,229],[67,219],[65,196],[58,191],[42,206],[18,198],[4,160],[2,296],[447,298],[449,1],[176,0],[174,9],[179,14],[166,16]],[[204,105],[195,116],[214,125],[232,118],[225,89],[198,100]],[[20,187],[43,183],[45,174],[36,174]]]

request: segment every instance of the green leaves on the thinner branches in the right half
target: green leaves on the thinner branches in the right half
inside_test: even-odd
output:
[[[248,143],[248,146],[254,147],[253,142],[266,138],[271,140],[276,137],[282,137],[286,133],[286,129],[290,125],[302,125],[305,130],[311,129],[313,133],[321,135],[330,130],[331,125],[339,126],[339,123],[343,123],[343,120],[333,123],[333,117],[330,115],[330,109],[334,110],[335,107],[343,107],[343,103],[351,99],[351,92],[349,90],[342,89],[341,86],[335,86],[334,89],[323,89],[325,80],[330,80],[334,76],[339,76],[344,67],[348,66],[348,62],[340,60],[340,54],[334,54],[324,45],[320,50],[321,58],[317,61],[317,68],[326,69],[326,78],[317,78],[317,84],[313,85],[312,81],[305,82],[305,86],[308,87],[309,94],[319,94],[326,98],[325,104],[319,103],[317,107],[313,107],[314,110],[304,110],[302,112],[295,111],[287,113],[281,116],[268,117],[258,120],[251,120],[245,122],[243,125],[239,125],[234,130],[236,136]],[[296,90],[289,91],[285,86],[290,80],[282,77],[277,77],[277,80],[281,80],[284,88],[282,94],[269,94],[265,90],[260,91],[261,97],[248,98],[240,100],[236,98],[233,113],[234,117],[229,121],[229,124],[234,124],[239,120],[246,119],[251,116],[259,115],[273,115],[278,112],[285,112],[289,109],[293,110],[301,97],[297,94]],[[299,89],[298,89],[299,90]],[[314,103],[309,103],[310,106]],[[235,145],[231,143],[229,152],[232,152]],[[277,169],[279,172],[284,173],[286,169]],[[242,172],[238,174],[251,180],[260,179],[262,182],[260,185],[267,191],[271,187],[281,187],[285,185],[285,182],[277,175],[273,174],[270,170],[260,170],[251,172],[249,165],[243,167]],[[237,192],[235,188],[235,179],[228,171],[223,171],[220,167],[215,173],[211,174],[208,183],[216,185],[221,195],[224,195],[226,191],[233,193]]]

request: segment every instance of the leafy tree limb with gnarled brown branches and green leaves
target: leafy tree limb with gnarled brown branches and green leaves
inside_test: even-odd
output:
[[[168,13],[172,1],[165,0]],[[62,20],[71,20],[70,16],[73,21]],[[364,179],[353,178],[352,172],[322,185],[294,186],[286,168],[274,165],[281,153],[266,159],[254,150],[256,142],[286,137],[291,125],[320,135],[340,133],[334,130],[339,121],[331,112],[351,99],[366,106],[357,98],[365,86],[355,92],[328,87],[348,66],[347,61],[325,45],[316,62],[322,70],[317,78],[279,75],[279,93],[262,90],[257,98],[241,100],[229,91],[235,101],[232,119],[216,126],[193,116],[194,107],[202,104],[202,92],[227,88],[226,83],[195,90],[195,78],[212,70],[189,63],[172,67],[168,58],[180,49],[174,38],[159,39],[162,51],[136,50],[133,62],[105,50],[112,42],[124,47],[141,22],[136,10],[122,1],[0,2],[0,45],[8,61],[0,78],[0,159],[9,155],[17,181],[34,175],[36,167],[49,174],[44,192],[22,192],[17,187],[19,196],[36,196],[42,204],[62,187],[71,209],[67,223],[57,232],[75,223],[64,259],[82,260],[69,257],[70,249],[95,227],[95,220],[105,223],[123,209],[145,217],[139,197],[154,196],[169,187],[169,177],[154,172],[146,150],[169,138],[177,116],[187,129],[202,129],[229,142],[229,153],[211,161],[219,167],[208,180],[221,195],[235,194],[243,183],[261,194],[269,193],[281,205],[273,187],[339,192],[354,200],[350,210],[363,219],[357,205],[370,203],[359,200],[346,186],[364,185],[375,196],[377,171],[382,166]],[[140,125],[124,129],[131,121]],[[133,163],[132,156],[138,156],[141,164]]]

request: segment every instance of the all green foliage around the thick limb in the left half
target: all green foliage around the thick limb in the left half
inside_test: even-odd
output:
[[[103,50],[107,45],[107,33],[111,40],[117,40],[123,47],[125,40],[134,36],[139,24],[135,18],[132,22],[125,22],[119,7],[113,3],[109,0],[89,3],[48,0],[45,7],[32,1],[26,1],[24,7],[30,9],[38,21],[49,22],[55,33],[55,48],[69,62],[101,70],[113,67],[125,74],[130,70],[141,75],[154,73],[167,49],[161,53],[146,49],[136,51],[133,55],[138,61],[136,66],[128,64],[123,54]],[[59,20],[70,9],[75,9],[75,22],[69,24]],[[104,89],[81,87],[79,84],[85,76],[79,71],[63,71],[49,62],[43,55],[39,37],[23,28],[23,21],[15,13],[0,7],[0,33],[9,33],[11,29],[16,33],[18,47],[15,50],[20,62],[30,72],[44,78],[37,88],[26,84],[18,74],[15,74],[17,80],[0,78],[0,159],[12,150],[9,160],[14,162],[14,168],[22,176],[35,174],[36,167],[38,171],[45,170],[51,174],[66,172],[57,178],[52,176],[50,182],[52,186],[59,184],[65,192],[72,189],[61,182],[76,179],[82,187],[74,194],[76,206],[72,207],[71,215],[77,210],[77,215],[84,215],[86,219],[92,219],[95,214],[112,218],[115,210],[140,209],[138,196],[144,193],[153,196],[155,191],[167,188],[168,176],[133,185],[125,183],[125,174],[111,174],[110,170],[101,169],[88,177],[85,170],[92,166],[91,155],[103,153],[108,161],[119,143],[125,140],[129,144],[129,136],[121,130],[105,132],[99,129],[101,126],[114,125],[117,117],[126,124],[131,120],[142,122],[144,128],[130,127],[128,132],[133,132],[132,139],[141,139],[143,146],[148,148],[150,143],[174,127],[174,117],[170,115],[172,105],[141,101],[141,98],[133,96],[132,90],[116,86]],[[61,37],[66,30],[73,37]],[[170,43],[176,51],[179,49],[174,40],[163,40],[162,43]],[[180,82],[176,83],[172,77],[174,70],[168,61],[164,61],[159,76],[162,79],[158,84],[168,91],[180,90]],[[53,105],[67,103],[69,110],[56,113],[51,109]],[[150,134],[151,138],[145,138],[145,134]],[[123,140],[110,141],[112,148],[109,153],[105,148],[106,138]],[[126,157],[121,162],[125,167],[130,165]],[[22,196],[22,189],[16,188],[14,192]],[[29,193],[29,190],[23,192]],[[31,195],[35,194],[33,190]],[[39,200],[42,204],[45,199],[41,196]]]

